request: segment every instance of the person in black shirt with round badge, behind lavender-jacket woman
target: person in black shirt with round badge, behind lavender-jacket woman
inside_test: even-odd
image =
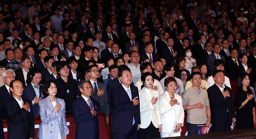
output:
[[[56,65],[59,78],[54,80],[56,86],[59,87],[56,97],[64,99],[66,103],[67,114],[72,114],[72,105],[75,99],[75,91],[77,82],[73,78],[69,78],[69,67],[65,61],[60,61]]]

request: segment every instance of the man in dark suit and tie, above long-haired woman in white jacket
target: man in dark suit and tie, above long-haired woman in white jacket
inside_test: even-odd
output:
[[[154,47],[153,44],[150,42],[146,42],[144,45],[145,53],[140,55],[141,59],[149,59],[150,63],[153,63],[154,61],[160,59],[160,57],[153,53]]]

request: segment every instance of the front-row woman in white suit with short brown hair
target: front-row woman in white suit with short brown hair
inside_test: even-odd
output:
[[[181,96],[175,94],[177,81],[174,77],[165,79],[165,91],[159,98],[162,121],[161,137],[181,136],[181,126],[184,122],[184,109]]]

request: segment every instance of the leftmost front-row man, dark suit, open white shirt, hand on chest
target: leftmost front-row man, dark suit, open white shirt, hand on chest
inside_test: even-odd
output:
[[[30,102],[22,98],[23,84],[19,80],[10,83],[13,97],[5,104],[7,111],[8,138],[35,138],[35,123]],[[22,118],[21,118],[22,117]]]

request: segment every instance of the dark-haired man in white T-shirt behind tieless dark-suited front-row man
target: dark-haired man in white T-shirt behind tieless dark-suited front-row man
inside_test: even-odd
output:
[[[224,71],[224,65],[225,65],[225,63],[221,59],[216,59],[214,61],[214,68],[215,68],[215,70],[222,70],[222,71]],[[209,78],[207,80],[207,83],[208,83],[209,87],[214,85],[215,82],[214,82],[213,76],[209,76]],[[227,76],[225,76],[224,85],[226,85],[227,87],[231,88],[230,81],[229,81],[229,78]]]

